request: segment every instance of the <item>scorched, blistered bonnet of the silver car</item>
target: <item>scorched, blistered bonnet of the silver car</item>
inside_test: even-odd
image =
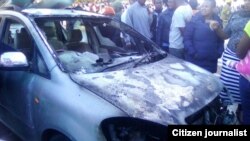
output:
[[[131,117],[168,124],[185,124],[185,117],[218,96],[222,85],[213,74],[175,57],[136,68],[72,79]]]

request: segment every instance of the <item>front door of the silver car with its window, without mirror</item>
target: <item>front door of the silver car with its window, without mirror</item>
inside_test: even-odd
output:
[[[0,71],[1,118],[12,127],[23,127],[19,130],[24,132],[24,129],[34,128],[32,111],[34,95],[38,93],[35,89],[41,85],[39,81],[47,80],[48,71],[31,32],[23,22],[6,18],[2,33],[1,47],[23,52],[30,65],[27,70]]]

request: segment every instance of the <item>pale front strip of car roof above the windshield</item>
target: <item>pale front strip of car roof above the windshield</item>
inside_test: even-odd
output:
[[[46,8],[29,8],[24,9],[21,11],[24,14],[30,15],[30,16],[92,16],[92,17],[106,17],[101,14],[93,13],[93,12],[87,12],[87,11],[81,11],[81,10],[74,10],[74,9],[46,9]]]

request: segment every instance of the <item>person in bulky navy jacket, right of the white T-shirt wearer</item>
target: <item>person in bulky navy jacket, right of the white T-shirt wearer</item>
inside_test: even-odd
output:
[[[192,17],[184,33],[185,59],[212,73],[217,71],[217,60],[224,50],[224,40],[211,27],[215,21],[222,26],[213,12],[215,7],[214,0],[204,0],[201,11]]]

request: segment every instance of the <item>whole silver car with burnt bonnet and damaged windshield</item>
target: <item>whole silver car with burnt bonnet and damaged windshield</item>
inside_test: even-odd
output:
[[[129,26],[72,9],[0,12],[0,119],[28,141],[165,141],[213,124],[222,86]]]

